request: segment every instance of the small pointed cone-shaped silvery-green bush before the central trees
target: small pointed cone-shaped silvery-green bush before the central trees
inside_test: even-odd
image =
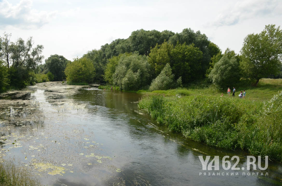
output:
[[[169,63],[167,63],[160,74],[157,76],[157,78],[152,81],[149,90],[167,90],[173,88],[173,80],[174,75],[172,74]]]

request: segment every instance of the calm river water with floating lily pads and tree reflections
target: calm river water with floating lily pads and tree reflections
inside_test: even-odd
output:
[[[61,82],[2,94],[0,157],[43,185],[282,185],[282,164],[246,170],[244,152],[159,126],[138,109],[141,96]],[[198,156],[208,155],[219,156],[219,170],[202,170]],[[245,170],[224,170],[225,155],[239,156],[237,167]]]

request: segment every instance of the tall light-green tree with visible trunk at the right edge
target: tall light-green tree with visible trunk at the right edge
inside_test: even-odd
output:
[[[244,38],[241,49],[241,67],[247,78],[256,80],[279,72],[282,56],[282,31],[274,24],[265,26],[261,33],[249,34]]]

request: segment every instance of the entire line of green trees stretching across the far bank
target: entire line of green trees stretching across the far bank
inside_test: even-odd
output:
[[[15,43],[10,37],[4,33],[0,38],[2,89],[64,79],[109,83],[124,90],[169,89],[206,79],[225,88],[243,79],[257,85],[261,78],[282,77],[282,32],[275,25],[247,35],[240,54],[229,48],[222,53],[205,34],[191,28],[181,33],[141,29],[73,61],[55,54],[45,64],[40,64],[42,45],[33,47],[31,37]]]

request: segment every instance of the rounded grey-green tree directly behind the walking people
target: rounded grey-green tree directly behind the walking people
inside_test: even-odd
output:
[[[239,62],[235,56],[228,58],[224,54],[219,62],[215,63],[208,77],[218,88],[233,87],[240,80]]]

